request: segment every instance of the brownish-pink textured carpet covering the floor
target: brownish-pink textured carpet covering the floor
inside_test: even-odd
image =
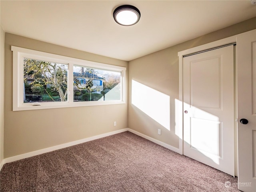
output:
[[[237,178],[130,132],[5,164],[0,182],[1,192],[239,192]]]

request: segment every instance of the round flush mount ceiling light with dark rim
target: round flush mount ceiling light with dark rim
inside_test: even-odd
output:
[[[140,11],[132,5],[122,5],[114,10],[115,21],[124,26],[131,26],[140,20]]]

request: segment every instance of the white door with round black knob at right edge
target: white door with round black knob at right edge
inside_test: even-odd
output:
[[[256,30],[237,37],[238,189],[256,191]],[[245,118],[248,124],[242,124]]]

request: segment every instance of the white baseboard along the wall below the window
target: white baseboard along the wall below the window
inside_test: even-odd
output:
[[[120,130],[105,133],[105,134],[96,135],[96,136],[89,137],[89,138],[84,138],[84,139],[69,142],[69,143],[64,143],[64,144],[61,144],[61,145],[57,145],[57,146],[53,146],[53,147],[49,147],[49,148],[45,148],[45,149],[41,149],[41,150],[37,150],[37,151],[25,153],[25,154],[21,154],[21,155],[9,157],[9,158],[5,158],[2,161],[3,164],[1,162],[1,168],[5,163],[14,162],[14,161],[21,160],[21,159],[24,159],[24,158],[40,155],[40,154],[43,154],[43,153],[51,152],[51,151],[66,148],[66,147],[70,147],[70,146],[73,146],[73,145],[81,144],[81,143],[92,141],[92,140],[95,140],[95,139],[99,139],[99,138],[107,137],[107,136],[110,136],[110,135],[122,133],[122,132],[125,132],[125,131],[128,131],[128,128],[120,129]]]

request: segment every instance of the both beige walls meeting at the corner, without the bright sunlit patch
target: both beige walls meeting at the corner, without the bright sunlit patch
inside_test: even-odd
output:
[[[132,60],[129,64],[125,61],[6,33],[4,158],[127,127],[178,148],[178,137],[174,132],[174,119],[176,115],[174,100],[179,98],[178,52],[255,28],[256,18],[252,18],[182,44]],[[12,112],[11,45],[84,60],[124,66],[127,67],[127,69],[129,66],[129,71],[127,71],[126,74],[126,77],[129,79],[129,82],[127,81],[129,85],[128,105],[119,104]],[[132,80],[170,96],[170,130],[161,126],[132,104]],[[161,114],[161,111],[158,113]],[[115,127],[113,126],[114,121],[117,122],[117,126]],[[162,130],[162,135],[157,134],[158,128]]]

